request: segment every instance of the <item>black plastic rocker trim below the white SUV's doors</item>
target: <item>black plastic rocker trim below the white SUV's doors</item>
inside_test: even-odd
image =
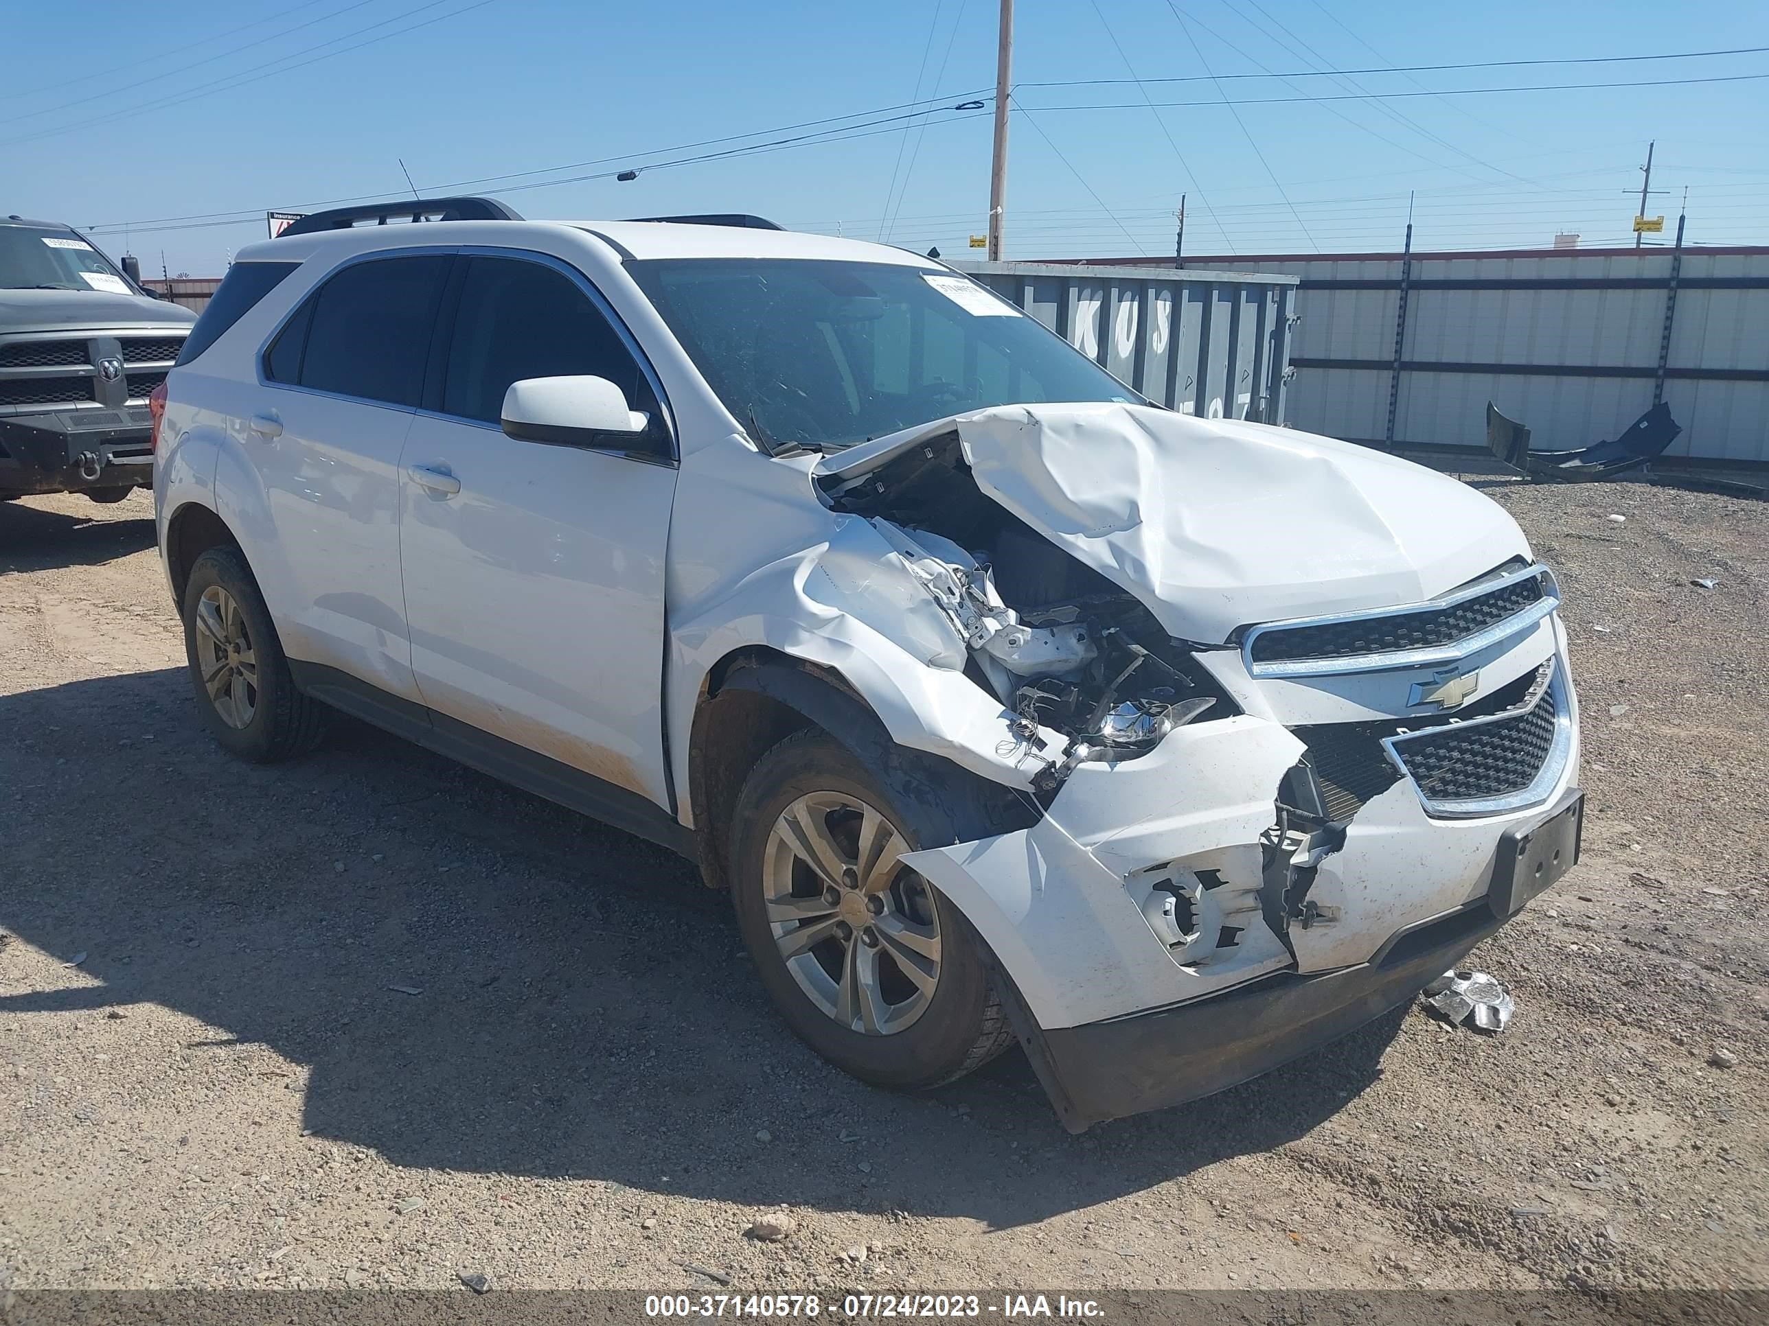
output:
[[[570,764],[536,755],[513,741],[439,714],[412,700],[389,695],[379,686],[322,663],[288,659],[295,686],[352,718],[373,723],[437,755],[465,766],[524,792],[547,797],[566,810],[610,824],[646,842],[667,847],[690,861],[697,859],[693,829],[678,824],[649,797],[609,783]]]

